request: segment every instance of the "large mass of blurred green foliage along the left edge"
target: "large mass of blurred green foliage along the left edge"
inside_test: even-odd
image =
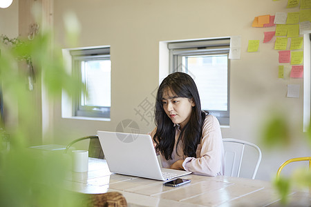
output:
[[[79,197],[66,189],[66,176],[70,173],[70,159],[59,152],[44,152],[28,148],[32,130],[38,128],[41,114],[35,104],[33,92],[28,88],[29,66],[35,70],[35,79],[44,85],[50,101],[59,99],[62,90],[68,95],[81,92],[84,85],[66,72],[62,50],[51,38],[52,32],[41,31],[31,41],[8,39],[1,36],[0,83],[6,93],[6,112],[18,111],[18,124],[0,134],[0,206],[83,206]],[[35,83],[34,87],[41,87]],[[18,103],[18,109],[12,106]],[[41,138],[40,138],[41,139]],[[5,146],[5,147],[3,147]]]

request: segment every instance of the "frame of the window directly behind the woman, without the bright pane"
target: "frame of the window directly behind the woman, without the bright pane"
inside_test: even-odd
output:
[[[208,39],[198,41],[181,41],[168,43],[169,48],[169,73],[187,72],[182,66],[182,57],[196,55],[227,55],[227,111],[208,110],[217,117],[220,125],[229,126],[230,113],[230,38]],[[191,75],[191,74],[190,74]],[[206,111],[206,110],[205,110]]]

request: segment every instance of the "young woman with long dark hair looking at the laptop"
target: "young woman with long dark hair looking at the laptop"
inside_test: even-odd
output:
[[[174,72],[162,81],[155,119],[151,137],[164,168],[223,175],[225,159],[218,119],[201,110],[196,83],[189,75]]]

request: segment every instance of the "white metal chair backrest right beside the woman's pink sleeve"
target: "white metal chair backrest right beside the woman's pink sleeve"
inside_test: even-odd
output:
[[[245,154],[245,145],[250,146],[258,152],[256,165],[252,174],[255,179],[259,164],[261,163],[261,149],[248,141],[240,139],[223,139],[225,149],[225,175],[231,177],[240,177],[241,165]]]

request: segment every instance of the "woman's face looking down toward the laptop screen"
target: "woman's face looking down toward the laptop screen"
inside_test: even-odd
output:
[[[162,104],[167,116],[174,124],[183,128],[189,121],[192,106],[196,106],[192,99],[178,97],[171,90],[164,90]]]

